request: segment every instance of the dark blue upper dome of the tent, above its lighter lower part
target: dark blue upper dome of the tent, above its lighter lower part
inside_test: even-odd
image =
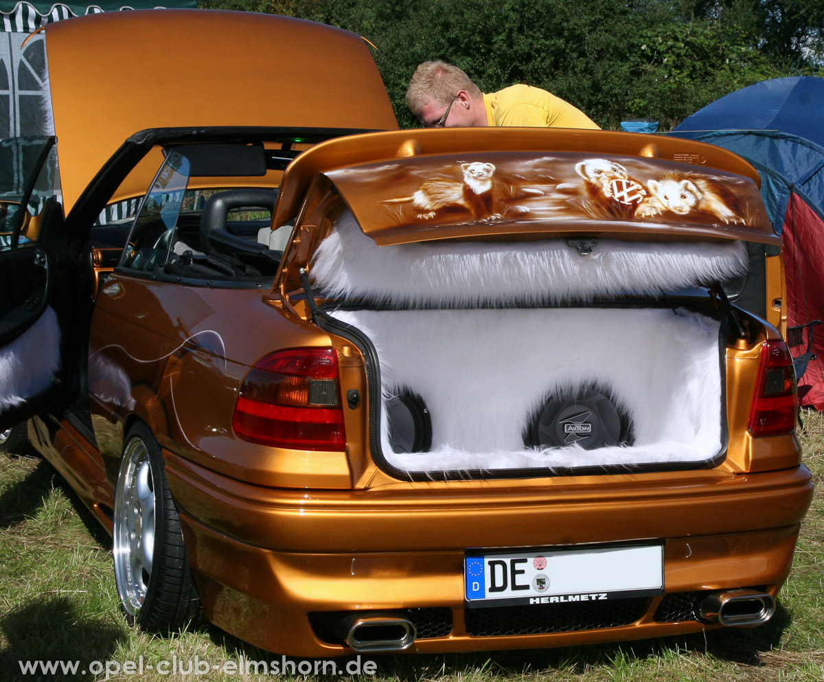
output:
[[[715,130],[780,130],[824,147],[824,78],[774,78],[715,100],[673,128],[695,138]]]

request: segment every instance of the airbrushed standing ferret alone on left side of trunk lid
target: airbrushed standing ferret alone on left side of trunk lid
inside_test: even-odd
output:
[[[493,213],[495,166],[491,163],[461,163],[463,182],[427,180],[409,197],[386,199],[384,203],[411,201],[421,220],[431,220],[441,209],[466,208],[475,220],[497,217]]]

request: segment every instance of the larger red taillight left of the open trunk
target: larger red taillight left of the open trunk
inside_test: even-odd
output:
[[[344,451],[335,351],[290,348],[263,357],[243,381],[232,427],[239,437],[253,443]]]

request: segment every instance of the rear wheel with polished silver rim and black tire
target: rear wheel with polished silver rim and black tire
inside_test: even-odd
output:
[[[127,619],[152,633],[197,621],[194,585],[160,446],[143,423],[126,437],[115,489],[112,554]]]

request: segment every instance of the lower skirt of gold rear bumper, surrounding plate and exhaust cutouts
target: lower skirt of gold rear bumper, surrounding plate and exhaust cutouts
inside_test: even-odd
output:
[[[185,520],[208,619],[256,646],[292,656],[351,654],[332,633],[345,613],[393,613],[418,638],[408,652],[559,647],[694,633],[710,591],[757,587],[775,596],[798,528],[667,540],[667,594],[580,605],[464,607],[462,551],[288,554],[250,547]],[[555,609],[555,614],[550,610]]]

